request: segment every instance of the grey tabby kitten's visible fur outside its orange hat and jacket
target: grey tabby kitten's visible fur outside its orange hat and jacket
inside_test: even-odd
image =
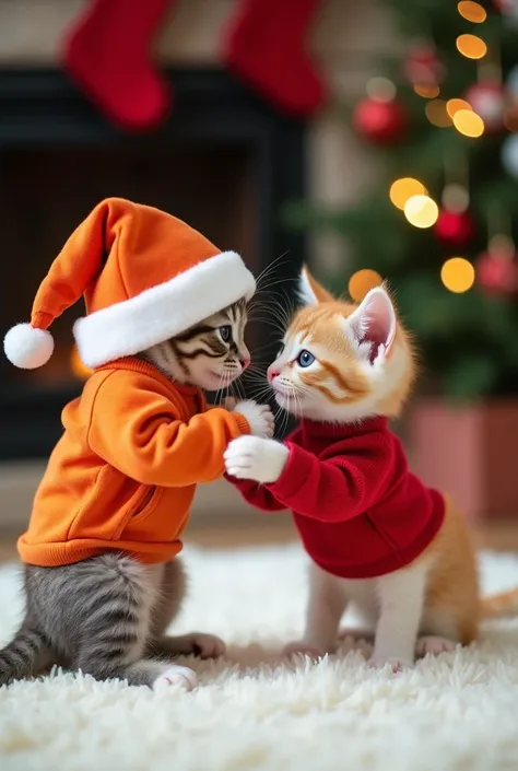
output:
[[[246,322],[243,300],[140,357],[176,382],[216,390],[235,381],[250,361],[244,342]],[[237,408],[254,428],[261,408],[247,401]],[[264,435],[272,435],[271,416],[264,413],[261,420],[271,427]],[[14,640],[0,651],[0,685],[60,664],[97,679],[190,689],[197,682],[192,669],[165,664],[157,656],[205,658],[225,650],[210,634],[165,635],[185,593],[178,558],[150,565],[106,552],[59,568],[25,565],[24,589],[25,619]]]

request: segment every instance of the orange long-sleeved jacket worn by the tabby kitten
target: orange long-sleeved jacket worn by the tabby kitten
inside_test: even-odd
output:
[[[127,358],[99,367],[63,410],[64,433],[19,539],[26,563],[70,564],[106,550],[142,562],[181,549],[197,482],[223,474],[246,419],[207,409],[199,388]]]

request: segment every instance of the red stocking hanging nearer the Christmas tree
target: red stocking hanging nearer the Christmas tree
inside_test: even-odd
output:
[[[320,0],[239,2],[223,51],[228,68],[286,113],[315,113],[326,89],[304,38]]]

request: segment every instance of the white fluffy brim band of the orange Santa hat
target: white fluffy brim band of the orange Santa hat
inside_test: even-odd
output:
[[[242,297],[256,280],[236,252],[222,252],[136,297],[79,318],[74,337],[89,367],[164,342]]]

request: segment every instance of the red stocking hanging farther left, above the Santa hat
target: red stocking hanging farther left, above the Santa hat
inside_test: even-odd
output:
[[[174,0],[92,0],[64,43],[71,78],[116,124],[156,127],[172,95],[149,49]]]

